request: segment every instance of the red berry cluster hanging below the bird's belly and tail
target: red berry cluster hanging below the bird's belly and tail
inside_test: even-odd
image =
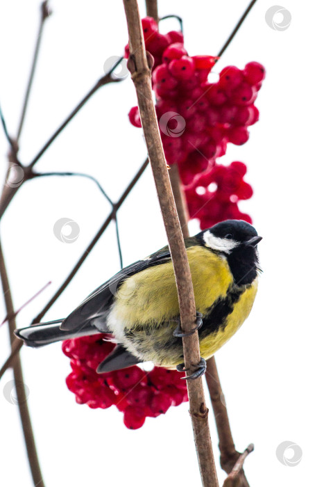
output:
[[[136,365],[107,374],[96,368],[114,349],[110,335],[65,340],[62,350],[71,359],[72,372],[67,387],[76,394],[78,404],[90,408],[109,408],[114,404],[124,413],[123,422],[129,429],[140,428],[146,417],[157,417],[170,406],[188,400],[184,374],[154,367],[144,372]]]

